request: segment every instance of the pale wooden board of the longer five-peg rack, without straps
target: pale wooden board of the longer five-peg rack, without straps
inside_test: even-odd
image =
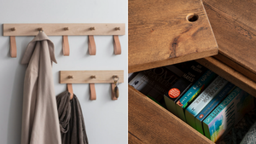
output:
[[[15,27],[15,31],[12,28]],[[65,31],[68,27],[68,31]],[[94,30],[90,28],[94,27]],[[119,27],[119,30],[115,28]],[[91,24],[3,24],[3,36],[36,36],[38,28],[43,28],[48,36],[79,35],[125,35],[125,24],[91,23]]]

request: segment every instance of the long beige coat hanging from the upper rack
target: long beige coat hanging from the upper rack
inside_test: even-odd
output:
[[[21,144],[61,144],[52,61],[54,44],[44,32],[28,43],[21,64],[24,80]]]

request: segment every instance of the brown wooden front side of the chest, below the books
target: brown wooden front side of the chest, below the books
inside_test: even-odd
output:
[[[129,85],[129,143],[213,143]]]

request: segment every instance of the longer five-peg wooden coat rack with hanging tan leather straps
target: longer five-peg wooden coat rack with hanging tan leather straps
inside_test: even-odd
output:
[[[63,55],[70,55],[68,36],[88,36],[90,55],[96,55],[95,35],[113,36],[113,53],[121,54],[119,35],[125,35],[125,24],[3,24],[3,36],[10,37],[10,55],[17,56],[16,36],[36,36],[44,31],[48,36],[62,36]]]

